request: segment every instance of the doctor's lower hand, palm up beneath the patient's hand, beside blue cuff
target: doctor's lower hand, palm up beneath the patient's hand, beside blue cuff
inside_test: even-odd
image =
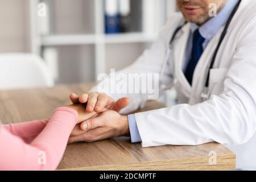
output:
[[[127,116],[120,115],[113,110],[104,111],[97,117],[90,118],[76,127],[80,127],[80,131],[77,130],[77,133],[73,133],[69,137],[69,143],[94,142],[130,134]]]

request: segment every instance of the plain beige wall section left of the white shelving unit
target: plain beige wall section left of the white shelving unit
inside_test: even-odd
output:
[[[28,52],[28,0],[0,0],[0,53]]]

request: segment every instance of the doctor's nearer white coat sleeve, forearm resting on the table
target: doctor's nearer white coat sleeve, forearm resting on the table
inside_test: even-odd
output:
[[[213,141],[233,145],[247,142],[255,132],[253,118],[247,117],[242,107],[223,95],[195,106],[184,104],[137,113],[135,118],[143,147]]]

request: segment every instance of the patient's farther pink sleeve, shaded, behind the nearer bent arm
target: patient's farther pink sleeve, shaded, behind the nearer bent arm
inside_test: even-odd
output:
[[[16,135],[24,140],[26,143],[31,143],[39,133],[46,127],[49,119],[15,123],[10,125],[3,125],[2,127],[10,131],[11,134]]]

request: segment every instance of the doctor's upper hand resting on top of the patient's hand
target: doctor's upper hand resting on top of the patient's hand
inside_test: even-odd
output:
[[[96,113],[101,113],[102,111],[106,110],[114,110],[119,112],[121,109],[129,105],[130,102],[129,98],[127,97],[123,97],[115,101],[107,94],[98,92],[84,93],[80,97],[75,93],[72,93],[70,94],[69,98],[73,104],[84,104],[87,102],[86,111],[95,111]]]

